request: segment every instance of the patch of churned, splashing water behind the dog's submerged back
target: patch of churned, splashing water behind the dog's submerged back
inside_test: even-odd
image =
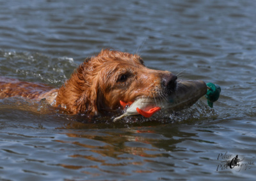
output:
[[[42,54],[29,54],[28,52],[3,52],[1,61],[1,74],[26,80],[30,82],[48,83],[54,86],[62,85],[69,78],[72,71],[77,68],[72,57],[50,57]]]

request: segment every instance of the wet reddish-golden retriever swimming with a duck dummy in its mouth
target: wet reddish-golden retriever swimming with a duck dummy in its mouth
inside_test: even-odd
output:
[[[176,80],[177,76],[170,71],[147,68],[137,54],[104,49],[85,59],[60,89],[2,77],[0,98],[45,98],[68,113],[95,115],[115,111],[120,101],[163,99],[175,91]]]

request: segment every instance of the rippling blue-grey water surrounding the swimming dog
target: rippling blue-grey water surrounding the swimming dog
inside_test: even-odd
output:
[[[150,68],[221,86],[214,110],[202,99],[182,112],[116,123],[2,99],[0,180],[255,178],[255,1],[0,6],[0,76],[60,87],[83,59],[111,47],[138,52]],[[243,166],[221,170],[236,155]]]

